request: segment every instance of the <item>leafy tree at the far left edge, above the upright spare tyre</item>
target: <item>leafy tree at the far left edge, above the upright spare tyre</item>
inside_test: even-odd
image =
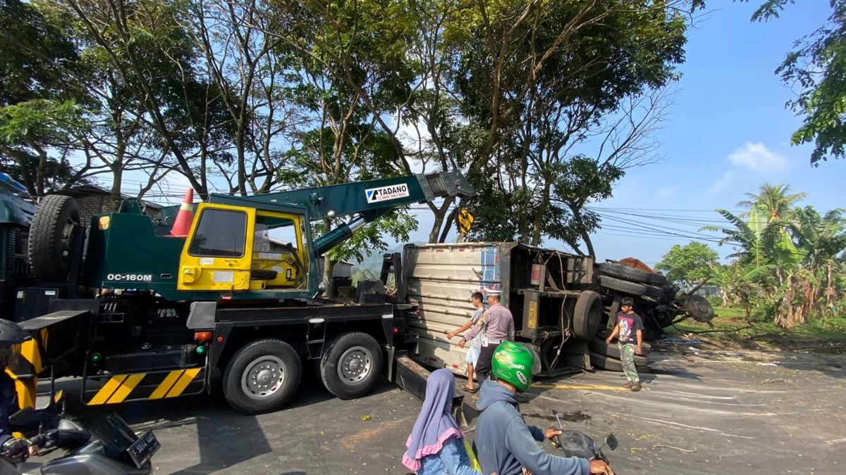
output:
[[[80,57],[29,3],[3,0],[0,22],[0,168],[41,196],[84,174],[68,157],[89,129],[86,97],[75,87]]]

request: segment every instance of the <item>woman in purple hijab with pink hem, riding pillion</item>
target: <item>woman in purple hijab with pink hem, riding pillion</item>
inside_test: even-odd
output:
[[[470,466],[464,450],[464,433],[449,409],[455,394],[455,377],[438,369],[426,380],[426,401],[405,446],[403,465],[417,475],[481,475]]]

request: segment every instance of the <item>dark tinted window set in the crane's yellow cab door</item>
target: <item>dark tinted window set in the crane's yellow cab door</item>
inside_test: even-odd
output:
[[[242,211],[203,210],[188,253],[198,257],[242,257],[247,215]]]

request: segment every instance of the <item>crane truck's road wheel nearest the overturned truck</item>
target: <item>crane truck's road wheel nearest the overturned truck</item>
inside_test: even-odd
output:
[[[354,399],[376,385],[382,373],[382,347],[370,335],[353,331],[335,338],[320,360],[323,385],[334,396]]]

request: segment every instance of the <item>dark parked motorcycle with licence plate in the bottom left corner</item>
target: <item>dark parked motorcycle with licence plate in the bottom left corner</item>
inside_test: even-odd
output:
[[[9,423],[14,428],[38,427],[38,434],[30,438],[30,443],[39,447],[40,456],[65,450],[64,456],[41,465],[42,475],[146,475],[152,472],[151,458],[161,447],[151,430],[138,437],[117,414],[99,418],[85,429],[54,413],[51,407],[37,411],[27,407],[9,417]],[[18,454],[0,453],[0,457],[20,469],[28,454],[24,450]]]

